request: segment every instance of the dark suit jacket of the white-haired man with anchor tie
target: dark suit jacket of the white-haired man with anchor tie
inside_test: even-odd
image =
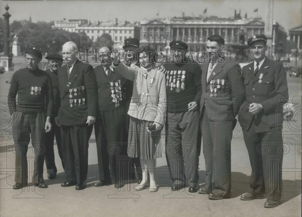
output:
[[[81,87],[84,87],[83,88]],[[69,92],[69,89],[76,89],[77,92]],[[91,65],[77,60],[67,75],[67,64],[58,70],[59,89],[59,124],[60,125],[81,125],[87,121],[87,116],[96,116],[98,113],[98,89],[95,72]],[[69,97],[71,94],[72,97]],[[81,99],[81,106],[70,107],[70,100]],[[83,101],[85,99],[85,102]],[[76,103],[79,104],[78,101]]]

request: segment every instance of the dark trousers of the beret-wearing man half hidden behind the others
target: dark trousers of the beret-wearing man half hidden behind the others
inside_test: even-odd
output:
[[[61,127],[57,126],[54,117],[51,117],[51,124],[53,129],[46,133],[46,150],[45,150],[45,164],[47,168],[47,174],[56,174],[57,168],[55,164],[55,154],[53,151],[53,141],[56,135],[56,143],[58,146],[59,156],[62,161],[62,166],[64,168],[63,153],[62,153],[62,138],[61,138]]]

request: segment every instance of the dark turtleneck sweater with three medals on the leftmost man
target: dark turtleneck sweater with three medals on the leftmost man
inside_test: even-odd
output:
[[[31,94],[31,87],[40,87],[40,94]],[[18,93],[18,106],[15,98]],[[51,116],[53,111],[53,92],[51,78],[47,72],[40,69],[27,68],[16,71],[11,79],[8,92],[8,105],[10,113],[20,111],[24,113],[38,113],[45,111]]]

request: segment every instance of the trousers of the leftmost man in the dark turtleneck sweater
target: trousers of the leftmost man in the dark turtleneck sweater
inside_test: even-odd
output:
[[[16,169],[22,169],[22,172],[16,172],[15,182],[27,183],[27,160],[32,167],[31,162],[34,160],[33,183],[39,183],[43,180],[43,164],[45,153],[45,122],[46,113],[22,113],[15,112],[13,133],[17,134],[14,138]],[[31,136],[31,137],[30,137]],[[32,157],[27,157],[28,144],[33,145]],[[30,160],[31,159],[31,160]]]

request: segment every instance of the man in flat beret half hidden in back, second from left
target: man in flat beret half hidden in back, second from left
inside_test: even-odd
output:
[[[50,75],[51,78],[51,85],[53,88],[53,98],[56,99],[58,97],[58,69],[62,66],[63,59],[62,56],[58,53],[51,53],[48,56],[45,57],[45,59],[48,60],[48,65],[50,66],[50,69],[47,69],[45,72],[47,72]],[[63,153],[62,153],[62,139],[61,139],[61,127],[57,126],[55,123],[55,117],[58,116],[58,110],[59,108],[56,105],[56,101],[54,101],[53,105],[53,114],[50,118],[50,122],[53,126],[52,130],[48,133],[46,133],[46,150],[45,150],[45,164],[47,168],[47,177],[49,179],[53,179],[56,177],[57,168],[55,164],[55,155],[53,152],[53,141],[54,137],[56,135],[56,143],[58,146],[58,152],[59,156],[62,161],[62,166],[64,168],[64,162],[63,162]]]

